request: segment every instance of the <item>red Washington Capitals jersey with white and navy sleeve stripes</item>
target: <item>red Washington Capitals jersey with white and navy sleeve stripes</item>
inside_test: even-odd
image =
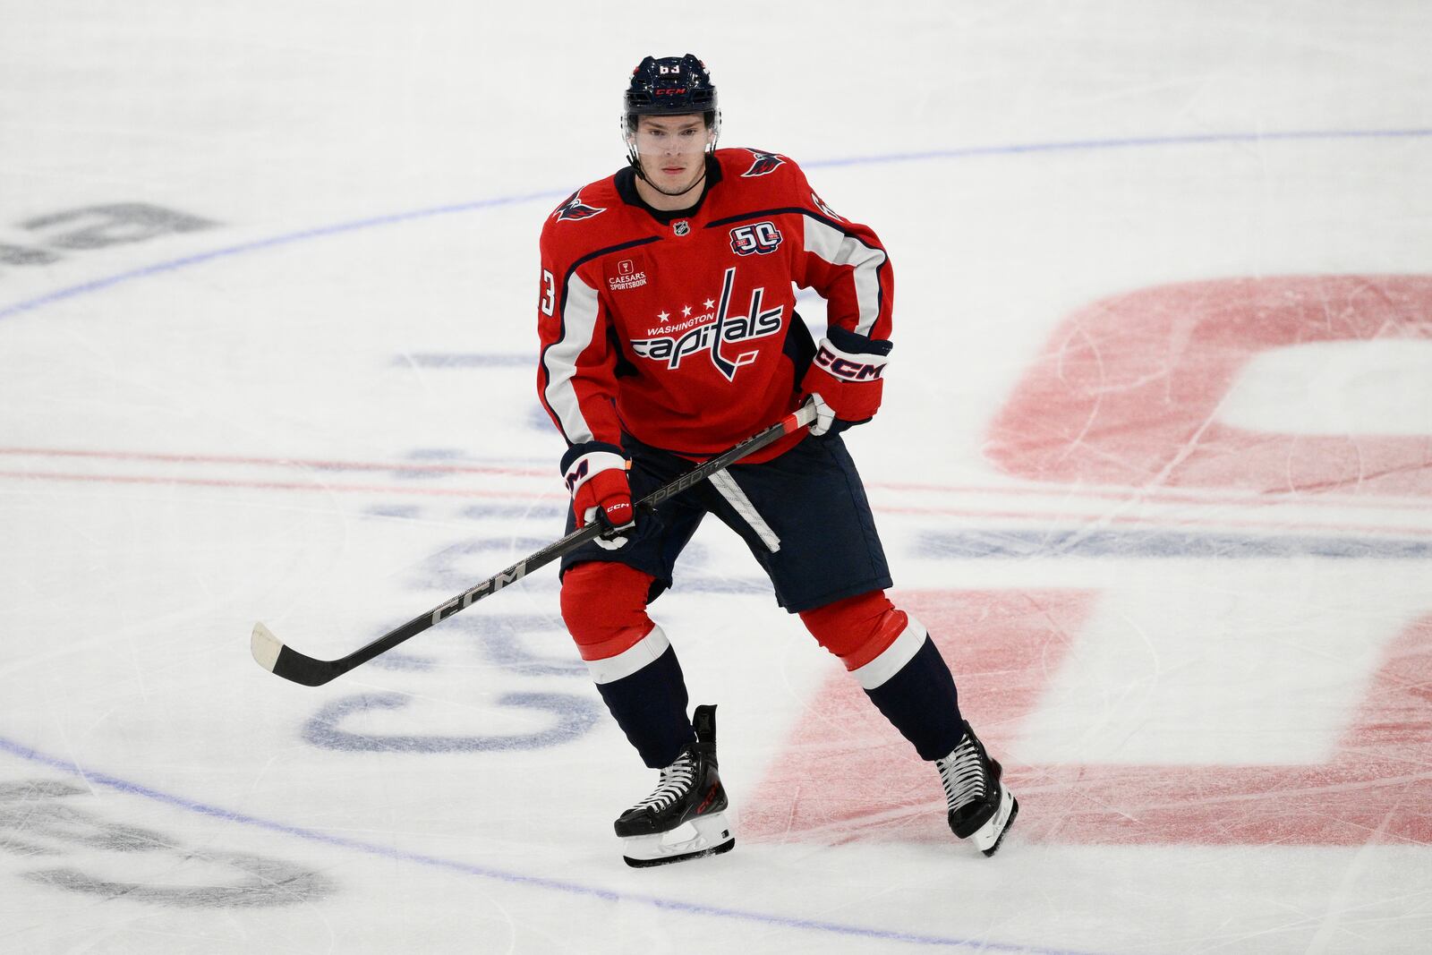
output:
[[[894,282],[871,229],[832,212],[785,156],[720,149],[706,165],[692,209],[653,210],[623,169],[547,218],[537,389],[569,445],[626,431],[700,458],[788,414],[813,351],[792,283],[828,301],[832,328],[889,338]]]

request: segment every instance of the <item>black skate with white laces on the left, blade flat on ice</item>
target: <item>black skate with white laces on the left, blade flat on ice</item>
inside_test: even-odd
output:
[[[716,707],[697,706],[696,742],[662,769],[656,790],[616,820],[630,866],[666,865],[729,852],[726,789],[716,772]]]

